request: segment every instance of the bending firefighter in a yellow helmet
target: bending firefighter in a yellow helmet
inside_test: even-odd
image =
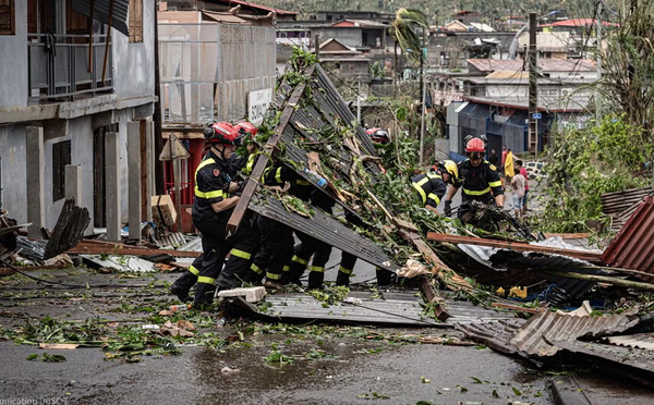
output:
[[[429,172],[411,177],[411,186],[417,192],[421,204],[429,211],[439,214],[436,207],[447,191],[447,184],[455,185],[458,177],[457,163],[444,160],[434,164]]]

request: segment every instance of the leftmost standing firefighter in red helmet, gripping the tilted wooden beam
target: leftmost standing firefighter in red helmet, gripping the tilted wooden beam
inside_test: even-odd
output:
[[[202,269],[197,274],[196,308],[214,300],[216,279],[221,273],[227,255],[231,253],[232,256],[238,256],[240,251],[244,251],[240,249],[243,241],[238,240],[237,235],[228,238],[227,234],[227,221],[239,201],[239,197],[232,194],[242,188],[242,184],[232,181],[235,173],[229,164],[237,148],[239,133],[231,124],[217,122],[205,127],[204,135],[210,149],[195,171],[192,209],[193,224],[202,233],[204,255]],[[239,228],[239,231],[244,228]]]

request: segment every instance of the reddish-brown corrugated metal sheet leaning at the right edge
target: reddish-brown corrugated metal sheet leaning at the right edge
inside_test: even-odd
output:
[[[607,266],[640,270],[654,282],[654,197],[647,196],[602,255]]]

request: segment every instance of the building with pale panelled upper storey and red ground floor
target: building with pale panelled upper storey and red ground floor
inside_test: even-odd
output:
[[[159,4],[161,132],[165,139],[174,134],[190,155],[177,169],[178,163],[165,162],[165,192],[181,208],[186,232],[192,231],[187,208],[204,155],[205,124],[243,120],[258,124],[272,99],[277,72],[271,23],[271,16],[244,11],[171,11]]]

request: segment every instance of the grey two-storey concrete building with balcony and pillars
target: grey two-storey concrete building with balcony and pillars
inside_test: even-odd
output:
[[[155,0],[2,4],[2,208],[38,235],[75,196],[117,238],[149,212]]]

